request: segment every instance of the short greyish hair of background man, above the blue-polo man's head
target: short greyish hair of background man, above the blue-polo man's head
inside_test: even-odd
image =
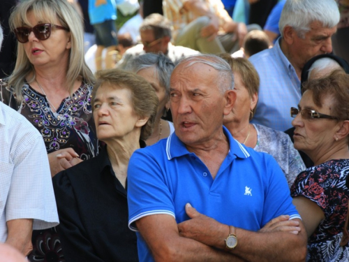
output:
[[[155,40],[164,36],[169,36],[171,38],[171,29],[171,22],[158,13],[148,15],[140,25],[140,31],[152,30]]]

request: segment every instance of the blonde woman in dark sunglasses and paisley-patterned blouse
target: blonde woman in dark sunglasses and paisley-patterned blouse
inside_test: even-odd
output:
[[[54,176],[98,153],[91,112],[95,79],[84,63],[83,23],[66,0],[27,0],[13,10],[10,27],[17,61],[0,82],[0,101],[40,131]],[[33,245],[31,261],[63,261],[55,229],[34,231]]]

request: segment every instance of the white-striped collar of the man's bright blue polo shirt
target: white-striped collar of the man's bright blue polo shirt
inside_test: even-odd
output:
[[[229,141],[230,150],[228,154],[231,154],[234,158],[240,159],[246,159],[247,157],[250,157],[250,154],[248,154],[244,145],[235,140],[235,138],[232,137],[230,131],[228,131],[225,126],[223,126],[223,133]],[[192,154],[186,149],[186,145],[184,145],[184,143],[179,140],[175,132],[173,132],[172,135],[167,138],[165,150],[168,160],[171,160],[175,157],[181,157],[186,154]]]

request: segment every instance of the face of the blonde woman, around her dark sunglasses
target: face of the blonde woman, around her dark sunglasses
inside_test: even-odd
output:
[[[30,24],[24,24],[25,27],[34,27],[36,24],[43,24],[47,21],[38,21],[31,11],[27,18]],[[54,23],[59,26],[57,21]],[[20,45],[24,46],[24,50],[31,64],[35,67],[62,66],[68,63],[70,44],[70,33],[63,29],[52,27],[51,35],[46,40],[39,40],[33,32],[29,34],[29,41]]]

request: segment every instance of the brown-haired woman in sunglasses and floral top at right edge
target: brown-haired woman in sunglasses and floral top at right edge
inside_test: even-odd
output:
[[[308,233],[307,261],[348,261],[341,247],[349,190],[349,75],[341,70],[310,80],[302,89],[295,117],[295,148],[314,166],[300,173],[291,195]]]

